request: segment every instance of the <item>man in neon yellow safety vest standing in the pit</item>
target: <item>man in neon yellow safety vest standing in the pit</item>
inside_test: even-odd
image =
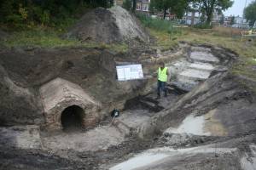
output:
[[[165,92],[165,97],[167,96],[166,82],[168,80],[168,69],[165,67],[163,62],[160,62],[160,67],[158,69],[158,82],[157,82],[157,97],[160,98],[160,92]]]

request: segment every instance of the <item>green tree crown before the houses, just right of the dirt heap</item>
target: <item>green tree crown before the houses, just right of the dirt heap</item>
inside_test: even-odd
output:
[[[150,9],[153,11],[163,11],[163,19],[166,19],[167,10],[169,10],[171,14],[176,14],[177,18],[181,18],[188,4],[189,1],[186,0],[152,0]]]

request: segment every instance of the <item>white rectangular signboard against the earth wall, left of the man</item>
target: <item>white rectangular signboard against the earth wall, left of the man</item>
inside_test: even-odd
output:
[[[119,65],[116,66],[119,81],[136,80],[143,78],[142,65]]]

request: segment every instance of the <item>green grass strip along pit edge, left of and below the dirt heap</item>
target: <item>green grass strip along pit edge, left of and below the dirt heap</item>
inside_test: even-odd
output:
[[[15,31],[8,38],[0,41],[0,45],[6,48],[108,48],[116,52],[125,52],[128,49],[125,43],[80,42],[78,39],[63,38],[62,34],[63,31],[50,28]]]

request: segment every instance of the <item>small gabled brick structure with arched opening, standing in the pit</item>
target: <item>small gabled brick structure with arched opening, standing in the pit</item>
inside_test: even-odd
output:
[[[73,124],[80,124],[81,127],[91,127],[99,121],[100,104],[90,98],[79,85],[67,80],[56,78],[44,84],[40,88],[40,94],[44,105],[45,127],[48,130],[61,130],[68,123],[68,117],[72,118]],[[67,113],[67,118],[61,118],[63,112]],[[66,114],[65,114],[66,115]],[[75,123],[77,120],[78,123]],[[67,124],[66,124],[67,123]],[[79,125],[77,125],[79,127]]]

